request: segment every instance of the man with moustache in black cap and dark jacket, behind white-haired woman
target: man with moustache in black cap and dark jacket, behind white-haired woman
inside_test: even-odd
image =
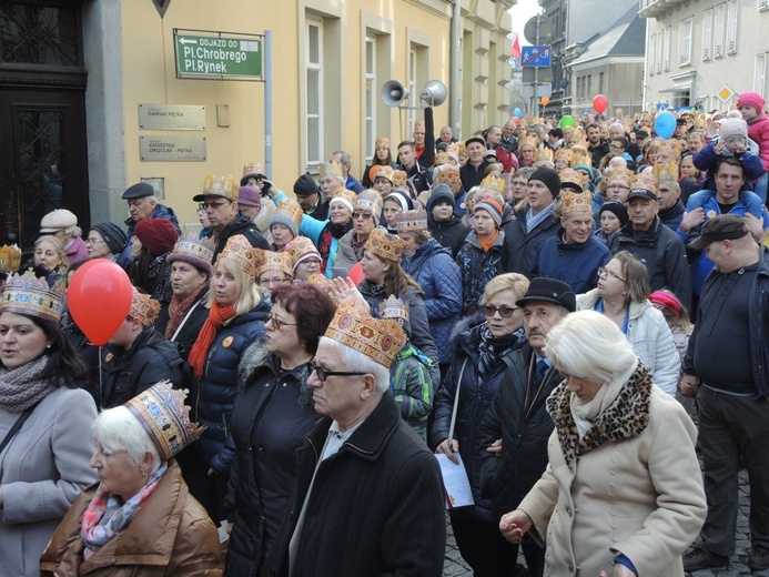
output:
[[[480,489],[492,499],[497,518],[518,507],[547,467],[553,419],[545,401],[564,377],[545,355],[545,337],[576,310],[576,297],[566,283],[538,277],[515,304],[524,310],[527,341],[509,357],[479,428]],[[545,549],[530,538],[523,540],[522,548],[528,574],[542,577]]]

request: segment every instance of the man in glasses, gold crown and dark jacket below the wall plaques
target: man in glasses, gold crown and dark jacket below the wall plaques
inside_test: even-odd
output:
[[[265,181],[265,188],[272,184]],[[211,233],[216,242],[212,261],[224,250],[230,237],[237,234],[245,236],[255,249],[270,250],[270,244],[259,232],[249,215],[237,204],[237,182],[232,176],[212,176],[209,174],[203,183],[203,192],[192,200],[205,209],[211,223]]]

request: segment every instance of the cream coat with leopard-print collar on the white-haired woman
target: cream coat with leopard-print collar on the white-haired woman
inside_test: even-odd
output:
[[[639,365],[634,377],[639,371],[646,373]],[[645,381],[645,391],[620,405],[618,423],[594,424],[581,442],[568,402],[559,402],[568,397],[565,385],[548,399],[556,422],[549,465],[520,503],[535,524],[529,534],[547,543],[545,575],[611,575],[624,554],[640,576],[684,576],[681,554],[706,514],[696,428],[677,401]],[[642,431],[627,435],[634,427]],[[631,438],[617,439],[623,435]]]

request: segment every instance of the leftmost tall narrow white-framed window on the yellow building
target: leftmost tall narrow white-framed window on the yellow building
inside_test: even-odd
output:
[[[306,99],[307,99],[307,164],[323,162],[323,24],[321,20],[307,19]]]

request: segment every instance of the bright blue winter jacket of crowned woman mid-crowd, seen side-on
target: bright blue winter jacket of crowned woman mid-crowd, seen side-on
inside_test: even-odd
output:
[[[462,276],[452,259],[452,251],[431,239],[416,249],[411,261],[403,256],[401,266],[424,291],[422,300],[427,310],[429,332],[438,348],[438,362],[451,363],[453,355],[448,340],[462,312]]]

